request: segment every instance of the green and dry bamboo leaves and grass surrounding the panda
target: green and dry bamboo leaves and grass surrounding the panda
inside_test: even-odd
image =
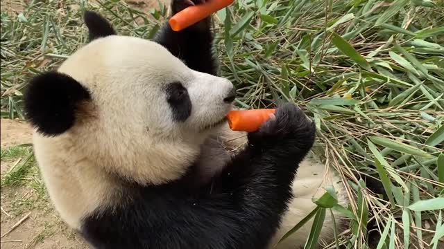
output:
[[[147,15],[134,4],[2,1],[1,118],[22,119],[26,79],[84,44],[82,10],[99,10],[121,34],[153,37],[166,10]],[[307,109],[318,127],[314,154],[358,196],[351,212],[334,205],[334,196],[318,211],[319,223],[323,208],[353,220],[336,243],[365,248],[365,224],[375,219],[379,248],[444,248],[442,0],[239,0],[215,20],[221,75],[237,85],[237,104],[291,101]],[[53,215],[30,147],[2,146],[1,160],[15,165],[2,169],[2,234],[28,212]],[[388,199],[367,190],[355,172],[382,181]],[[28,243],[35,248],[54,234],[76,240],[56,218],[39,224],[43,232]],[[11,234],[2,241],[14,240]]]

